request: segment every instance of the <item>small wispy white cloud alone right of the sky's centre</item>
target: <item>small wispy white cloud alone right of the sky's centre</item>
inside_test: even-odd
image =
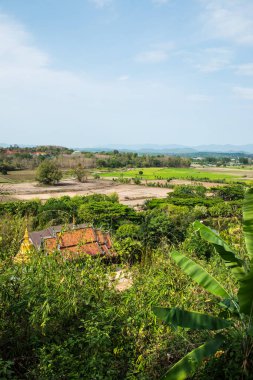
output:
[[[173,47],[174,44],[171,42],[153,44],[149,50],[137,54],[135,61],[140,63],[161,63],[167,61]]]

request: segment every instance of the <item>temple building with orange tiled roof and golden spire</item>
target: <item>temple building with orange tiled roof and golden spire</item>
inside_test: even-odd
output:
[[[84,255],[114,256],[111,248],[112,243],[108,232],[85,224],[67,227],[52,226],[33,232],[28,232],[26,229],[14,261],[27,261],[32,249],[42,250],[46,254],[58,251],[62,257],[72,260]]]

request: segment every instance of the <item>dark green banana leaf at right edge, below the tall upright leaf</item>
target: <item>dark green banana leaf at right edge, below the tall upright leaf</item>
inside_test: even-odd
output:
[[[238,300],[240,311],[253,317],[253,263],[249,273],[240,281]]]

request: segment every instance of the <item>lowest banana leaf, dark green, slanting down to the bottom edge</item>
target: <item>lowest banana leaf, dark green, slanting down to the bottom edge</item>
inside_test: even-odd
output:
[[[220,334],[215,338],[207,341],[198,348],[189,352],[183,359],[179,360],[172,368],[162,377],[162,380],[184,380],[191,376],[200,363],[207,357],[215,354],[224,341],[224,337]]]

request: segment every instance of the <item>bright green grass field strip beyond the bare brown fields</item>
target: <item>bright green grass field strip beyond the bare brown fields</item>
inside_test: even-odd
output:
[[[208,168],[210,169],[210,168]],[[101,177],[114,177],[114,178],[134,178],[139,177],[146,180],[159,180],[159,179],[193,179],[193,180],[209,180],[212,182],[226,180],[233,181],[243,177],[242,173],[234,173],[229,171],[221,172],[215,170],[197,169],[197,168],[139,168],[134,170],[122,170],[99,173]],[[142,171],[143,174],[139,174]]]

